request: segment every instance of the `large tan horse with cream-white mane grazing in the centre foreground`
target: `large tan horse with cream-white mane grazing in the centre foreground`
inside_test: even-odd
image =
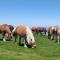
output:
[[[32,30],[28,26],[20,25],[13,32],[14,32],[15,38],[16,38],[16,35],[19,35],[19,38],[20,38],[19,45],[24,44],[24,47],[28,47],[28,46],[32,48],[36,47]],[[23,38],[23,43],[22,43],[22,38]]]

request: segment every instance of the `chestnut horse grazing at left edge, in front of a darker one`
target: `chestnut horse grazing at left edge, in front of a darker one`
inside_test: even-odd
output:
[[[10,40],[12,37],[12,32],[7,24],[0,25],[0,33],[3,34],[3,41]]]

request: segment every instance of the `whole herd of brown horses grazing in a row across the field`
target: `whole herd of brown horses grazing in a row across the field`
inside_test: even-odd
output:
[[[0,25],[0,33],[3,35],[3,41],[11,40],[12,37],[15,37],[15,42],[17,36],[19,36],[19,45],[24,47],[36,48],[36,41],[34,34],[44,34],[48,33],[48,39],[56,38],[56,42],[60,41],[60,28],[55,26],[50,26],[48,29],[44,27],[28,27],[28,26],[17,26],[14,28],[12,25],[2,24]]]

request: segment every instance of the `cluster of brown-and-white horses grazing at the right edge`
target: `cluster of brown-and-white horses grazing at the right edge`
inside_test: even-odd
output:
[[[49,27],[48,28],[48,38],[54,39],[54,36],[56,37],[56,42],[60,42],[60,28],[58,27]]]

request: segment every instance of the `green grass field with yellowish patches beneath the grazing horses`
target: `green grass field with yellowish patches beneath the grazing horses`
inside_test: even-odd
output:
[[[35,39],[35,49],[18,46],[14,41],[0,41],[0,60],[60,60],[60,43],[48,40],[47,36]]]

